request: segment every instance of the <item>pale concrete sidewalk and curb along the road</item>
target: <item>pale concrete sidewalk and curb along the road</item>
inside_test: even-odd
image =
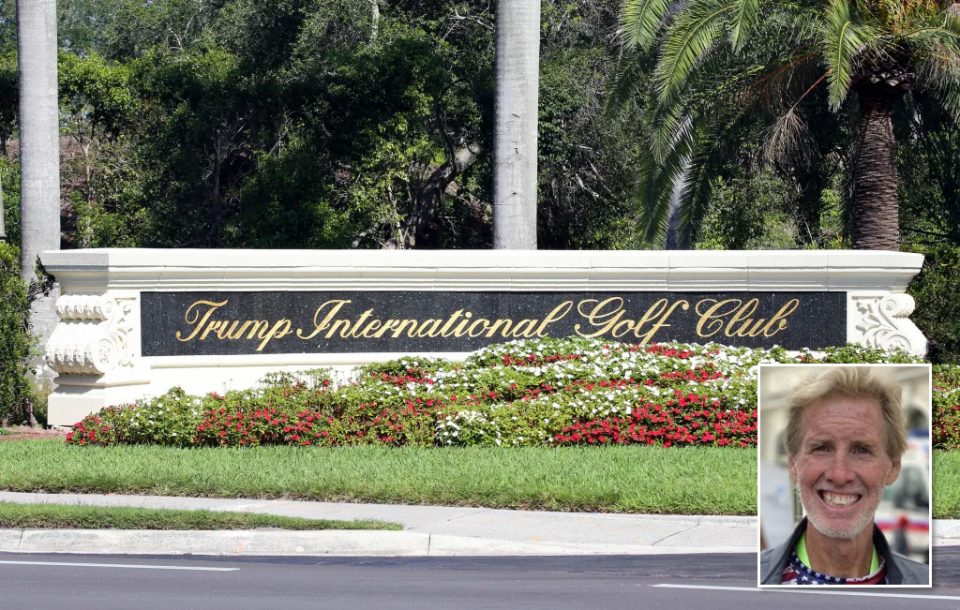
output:
[[[488,508],[0,492],[0,501],[141,506],[381,519],[377,530],[0,529],[0,552],[220,556],[558,556],[755,553],[755,517],[512,511]],[[960,545],[960,521],[933,522],[935,546]]]

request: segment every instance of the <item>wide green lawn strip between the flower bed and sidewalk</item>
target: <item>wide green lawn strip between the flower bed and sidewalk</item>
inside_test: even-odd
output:
[[[0,443],[0,489],[663,514],[756,513],[757,453],[710,447],[175,449]]]

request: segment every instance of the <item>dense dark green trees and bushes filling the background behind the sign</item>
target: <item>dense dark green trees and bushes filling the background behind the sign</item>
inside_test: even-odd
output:
[[[709,129],[691,206],[651,238],[657,51],[624,46],[621,8],[542,3],[540,247],[848,246],[856,103],[831,112],[819,93],[804,98],[803,145],[771,156],[771,113],[743,104],[789,41],[761,30],[693,73],[684,107]],[[0,181],[18,244],[15,9],[0,3]],[[64,247],[491,245],[490,3],[60,0],[58,11]],[[910,290],[930,358],[957,363],[960,129],[925,96],[895,113],[902,247],[927,256]],[[17,302],[2,281],[2,300]]]

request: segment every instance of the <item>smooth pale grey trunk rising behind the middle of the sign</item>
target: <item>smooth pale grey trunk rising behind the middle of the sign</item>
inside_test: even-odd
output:
[[[537,248],[540,0],[497,4],[493,247]]]

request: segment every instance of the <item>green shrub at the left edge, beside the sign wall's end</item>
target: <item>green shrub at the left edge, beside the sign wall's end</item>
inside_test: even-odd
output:
[[[0,243],[0,421],[25,423],[31,400],[30,299],[20,279],[20,252]]]

